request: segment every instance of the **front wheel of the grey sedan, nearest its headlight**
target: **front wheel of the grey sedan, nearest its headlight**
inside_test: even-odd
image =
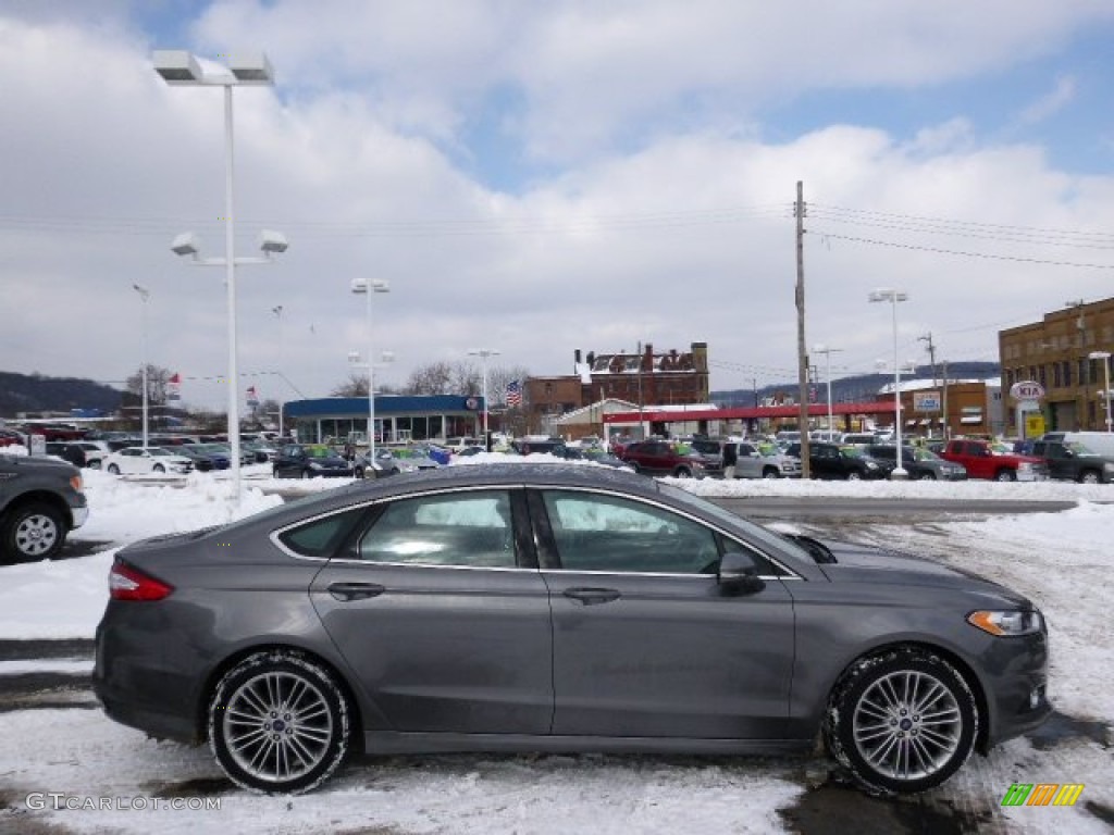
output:
[[[975,747],[978,719],[975,696],[955,667],[931,652],[893,649],[843,674],[823,735],[864,787],[913,793],[959,770]]]

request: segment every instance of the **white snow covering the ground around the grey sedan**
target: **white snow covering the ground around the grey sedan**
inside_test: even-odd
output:
[[[478,456],[480,460],[483,456]],[[501,456],[498,456],[501,460]],[[531,456],[532,459],[532,456]],[[536,459],[532,459],[536,460]],[[472,463],[472,462],[470,462]],[[87,472],[89,522],[76,542],[108,550],[78,559],[0,568],[0,640],[91,638],[107,599],[106,577],[123,544],[255,512],[281,499],[266,491],[330,489],[341,480],[273,482],[266,468],[245,470],[234,512],[227,480],[207,474],[137,483]],[[1052,697],[1073,719],[1108,726],[1114,717],[1108,574],[1114,549],[1114,487],[998,484],[675,481],[710,497],[782,495],[1024,499],[1072,501],[1066,511],[986,521],[895,523],[857,530],[868,539],[939,559],[998,580],[1033,598],[1048,619]],[[72,659],[9,661],[0,676],[80,675]],[[1048,750],[1018,739],[974,758],[947,786],[929,793],[949,808],[981,811],[1006,832],[1108,832],[1084,802],[1114,808],[1114,758],[1072,738]],[[809,758],[610,756],[437,756],[362,760],[319,790],[274,798],[235,789],[207,748],[147,739],[99,710],[0,711],[0,829],[178,833],[360,831],[381,833],[780,833],[781,812],[807,790]],[[1083,783],[1073,808],[1000,808],[1014,782]],[[40,793],[28,797],[30,793]],[[51,798],[49,793],[61,793]],[[219,811],[182,811],[217,799]],[[869,803],[883,803],[869,800]],[[67,804],[80,808],[55,809]],[[90,808],[108,804],[113,808]],[[156,804],[160,811],[155,811]],[[119,809],[144,805],[147,808]],[[985,823],[985,822],[984,822]],[[984,827],[985,828],[985,827]]]

